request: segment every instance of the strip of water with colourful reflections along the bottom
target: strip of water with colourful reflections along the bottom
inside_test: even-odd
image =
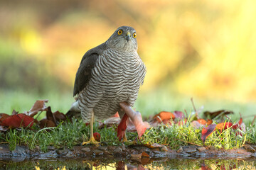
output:
[[[23,162],[6,159],[0,161],[0,169],[256,169],[256,159],[32,159]]]

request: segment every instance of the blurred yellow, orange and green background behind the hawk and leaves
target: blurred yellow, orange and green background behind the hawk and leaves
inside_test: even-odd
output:
[[[0,0],[0,113],[68,111],[82,55],[119,26],[147,67],[135,108],[256,111],[256,1]],[[248,117],[252,119],[252,117]]]

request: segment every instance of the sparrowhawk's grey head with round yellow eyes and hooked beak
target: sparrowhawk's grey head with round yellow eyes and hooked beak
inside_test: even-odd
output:
[[[115,50],[137,51],[136,37],[137,34],[134,28],[129,26],[119,27],[107,40],[107,47],[114,48]]]

